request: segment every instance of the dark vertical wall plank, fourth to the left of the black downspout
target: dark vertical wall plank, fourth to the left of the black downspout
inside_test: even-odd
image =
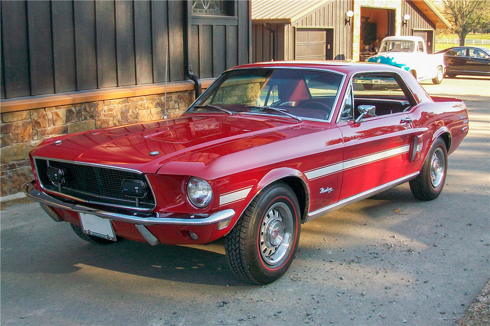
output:
[[[133,1],[116,1],[118,86],[135,85]]]

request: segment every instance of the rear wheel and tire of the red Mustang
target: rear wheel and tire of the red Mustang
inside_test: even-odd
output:
[[[436,199],[444,187],[447,173],[447,150],[441,138],[436,139],[425,158],[420,174],[410,181],[410,190],[420,200]]]

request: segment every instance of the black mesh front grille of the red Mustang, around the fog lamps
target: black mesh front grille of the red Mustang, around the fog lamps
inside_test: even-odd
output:
[[[36,159],[36,167],[43,187],[56,192],[59,192],[58,187],[46,176],[48,166],[63,170],[65,183],[61,187],[62,194],[89,202],[136,208],[136,200],[124,196],[121,184],[124,179],[141,180],[147,185],[148,190],[146,196],[139,201],[138,208],[148,209],[155,206],[153,194],[143,174],[51,159]]]

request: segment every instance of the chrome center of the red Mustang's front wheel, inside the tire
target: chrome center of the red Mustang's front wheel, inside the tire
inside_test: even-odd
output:
[[[270,265],[284,258],[292,242],[293,213],[288,205],[277,202],[267,211],[260,227],[260,254]]]

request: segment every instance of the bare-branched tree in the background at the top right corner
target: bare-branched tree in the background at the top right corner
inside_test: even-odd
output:
[[[458,34],[460,46],[465,45],[466,35],[481,29],[488,22],[490,0],[442,0],[446,19]]]

